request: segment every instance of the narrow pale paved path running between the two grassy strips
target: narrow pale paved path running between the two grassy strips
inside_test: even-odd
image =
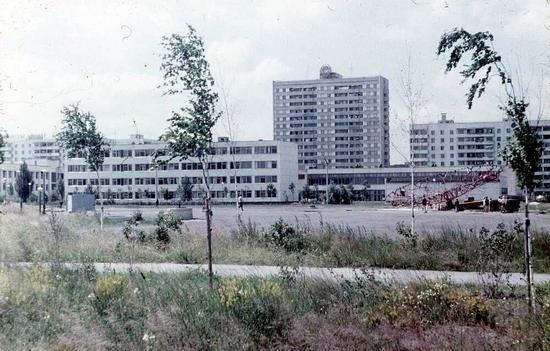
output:
[[[9,266],[9,263],[1,265]],[[29,266],[32,263],[12,263],[11,265]],[[66,264],[70,267],[76,267],[78,264]],[[203,264],[177,264],[177,263],[138,263],[130,265],[128,263],[95,263],[95,268],[100,272],[127,272],[130,267],[142,272],[155,273],[176,273],[190,271],[204,271],[207,266]],[[246,266],[246,265],[223,265],[215,264],[214,273],[222,277],[273,277],[281,272],[280,267],[276,266]],[[396,282],[399,284],[408,284],[410,282],[422,279],[442,279],[447,278],[458,284],[480,284],[482,277],[476,272],[445,272],[445,271],[416,271],[403,269],[369,269],[368,274],[375,280],[383,282]],[[298,269],[300,276],[311,279],[328,279],[334,281],[355,279],[357,276],[365,277],[360,270],[354,268],[314,268],[300,267]],[[512,285],[524,285],[523,274],[512,273],[508,278]],[[550,274],[535,274],[535,284],[550,282]]]

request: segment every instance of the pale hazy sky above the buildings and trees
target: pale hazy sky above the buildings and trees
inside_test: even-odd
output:
[[[389,79],[391,163],[407,153],[400,82],[409,60],[425,100],[418,122],[441,112],[456,122],[500,120],[496,81],[468,110],[468,86],[444,72],[436,47],[455,27],[493,33],[532,113],[541,106],[550,118],[546,0],[0,0],[0,9],[0,127],[9,134],[53,134],[63,106],[79,102],[107,137],[158,138],[185,104],[158,88],[160,42],[187,24],[205,41],[221,96],[217,136],[272,139],[272,82],[316,79],[323,64],[344,77]]]

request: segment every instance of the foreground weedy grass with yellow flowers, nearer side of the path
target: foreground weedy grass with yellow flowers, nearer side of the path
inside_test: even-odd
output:
[[[550,286],[489,298],[446,281],[269,280],[0,269],[9,350],[546,350]]]

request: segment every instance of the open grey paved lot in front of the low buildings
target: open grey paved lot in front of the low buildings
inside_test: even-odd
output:
[[[195,219],[186,221],[186,225],[192,230],[204,230],[204,213],[202,208],[192,206]],[[152,218],[158,213],[154,207],[120,207],[106,208],[108,216],[128,217],[139,209],[145,217]],[[168,207],[162,208],[168,210]],[[237,211],[233,206],[213,207],[213,227],[218,233],[229,233],[237,226]],[[514,220],[522,220],[522,213],[483,213],[476,211],[445,212],[429,211],[416,213],[416,225],[421,231],[438,232],[443,226],[461,226],[465,228],[479,229],[481,226],[494,228],[500,222],[512,224]],[[410,209],[392,207],[366,207],[352,206],[323,206],[317,205],[311,208],[305,205],[248,205],[241,213],[243,221],[250,219],[259,226],[267,226],[278,218],[295,223],[296,220],[307,221],[314,227],[318,227],[321,220],[335,225],[348,225],[351,227],[363,226],[377,233],[391,234],[399,221],[409,223]],[[550,214],[532,213],[532,225],[537,230],[550,228]]]

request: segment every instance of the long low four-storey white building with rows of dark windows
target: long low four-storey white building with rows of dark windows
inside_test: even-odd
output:
[[[111,140],[111,152],[99,172],[104,198],[119,202],[150,202],[164,194],[173,198],[185,178],[193,184],[193,200],[204,197],[202,164],[196,159],[174,159],[153,166],[152,155],[164,144],[141,135]],[[291,199],[288,187],[298,182],[297,147],[282,141],[221,141],[212,145],[208,160],[208,180],[215,202],[235,202],[241,194],[245,202],[283,202]],[[67,193],[83,192],[98,184],[82,158],[65,160]],[[274,188],[275,191],[271,191]]]

